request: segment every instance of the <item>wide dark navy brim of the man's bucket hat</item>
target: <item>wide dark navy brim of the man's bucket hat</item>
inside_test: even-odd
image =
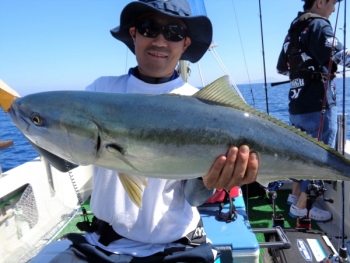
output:
[[[188,37],[191,45],[182,54],[180,60],[188,60],[192,63],[199,61],[208,50],[213,35],[211,22],[206,16],[179,16],[170,13],[160,12],[158,9],[142,2],[131,2],[125,6],[120,15],[120,26],[110,32],[113,37],[124,42],[135,54],[135,45],[130,36],[129,29],[142,14],[157,12],[168,16],[176,17],[184,21],[188,30]]]

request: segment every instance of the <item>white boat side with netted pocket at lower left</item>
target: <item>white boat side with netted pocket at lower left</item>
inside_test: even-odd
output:
[[[0,263],[26,262],[36,255],[78,207],[68,173],[50,170],[52,179],[48,179],[47,164],[37,158],[2,174],[0,198],[8,200],[26,190],[18,202],[23,206],[10,203],[0,215]],[[83,200],[87,199],[92,189],[91,166],[78,167],[72,174]]]

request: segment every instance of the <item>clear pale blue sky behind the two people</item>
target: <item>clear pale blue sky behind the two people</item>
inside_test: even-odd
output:
[[[58,89],[84,89],[99,76],[124,74],[134,55],[109,30],[129,0],[1,0],[0,79],[26,95]],[[237,84],[263,82],[258,0],[204,0],[214,28],[217,54]],[[337,36],[343,42],[344,1]],[[275,65],[300,0],[261,0],[266,75],[286,80]],[[338,5],[336,5],[336,8]],[[349,11],[349,7],[348,7]],[[335,25],[336,12],[330,20]],[[347,43],[350,43],[349,32]],[[189,82],[200,86],[197,64]],[[224,73],[207,52],[200,61],[204,83]]]

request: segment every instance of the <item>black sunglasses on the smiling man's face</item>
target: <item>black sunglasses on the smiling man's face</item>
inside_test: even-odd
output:
[[[162,26],[152,20],[139,20],[136,22],[137,31],[144,37],[156,38],[160,33],[166,40],[179,42],[187,37],[187,29],[180,25]]]

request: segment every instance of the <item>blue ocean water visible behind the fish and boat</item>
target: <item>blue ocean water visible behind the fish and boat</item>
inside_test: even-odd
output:
[[[343,79],[337,79],[337,99],[338,113],[342,113],[342,93]],[[346,113],[350,107],[350,78],[346,79]],[[266,95],[263,84],[244,84],[238,85],[243,97],[247,103],[258,110],[266,113]],[[267,84],[267,97],[269,114],[286,123],[289,123],[288,117],[288,91],[289,84],[283,84],[271,87]],[[350,117],[347,121],[347,139],[350,139]],[[27,139],[10,121],[7,114],[0,110],[0,141],[13,140],[14,146],[0,151],[0,166],[3,171],[12,169],[20,164],[38,157],[38,153],[28,143]]]

